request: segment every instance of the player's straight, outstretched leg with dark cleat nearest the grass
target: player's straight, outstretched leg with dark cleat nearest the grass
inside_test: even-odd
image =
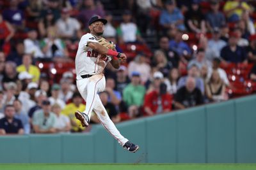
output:
[[[97,114],[101,124],[104,128],[115,138],[120,145],[122,145],[125,149],[129,150],[130,152],[136,152],[139,149],[138,145],[134,145],[133,143],[129,142],[128,139],[124,138],[122,134],[116,129],[115,124],[109,118],[108,112],[104,108],[102,102],[100,101],[100,97],[97,94],[95,96],[95,106],[93,111]]]

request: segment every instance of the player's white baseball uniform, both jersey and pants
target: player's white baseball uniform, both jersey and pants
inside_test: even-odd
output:
[[[106,80],[102,72],[111,60],[111,57],[100,55],[98,52],[87,46],[88,42],[99,43],[96,36],[87,33],[81,37],[76,54],[77,89],[86,101],[86,109],[83,113],[87,114],[90,119],[92,110],[95,111],[105,129],[118,141],[118,143],[120,143],[120,145],[124,146],[128,139],[124,138],[124,136],[122,136],[116,129],[115,124],[113,124],[109,118],[106,109],[100,101],[99,94],[97,94],[97,92],[102,92],[105,89]],[[93,76],[90,78],[81,77],[86,74]]]

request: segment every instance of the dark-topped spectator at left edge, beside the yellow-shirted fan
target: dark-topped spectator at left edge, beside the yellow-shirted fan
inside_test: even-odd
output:
[[[4,67],[3,80],[2,83],[15,82],[18,79],[16,64],[12,61],[7,61]]]

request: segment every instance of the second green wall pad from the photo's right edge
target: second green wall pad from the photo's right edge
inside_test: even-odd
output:
[[[236,161],[234,106],[234,101],[206,106],[207,163]]]

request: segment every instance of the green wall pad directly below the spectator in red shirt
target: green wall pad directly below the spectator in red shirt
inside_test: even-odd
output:
[[[147,156],[152,163],[177,162],[176,114],[147,119]]]

